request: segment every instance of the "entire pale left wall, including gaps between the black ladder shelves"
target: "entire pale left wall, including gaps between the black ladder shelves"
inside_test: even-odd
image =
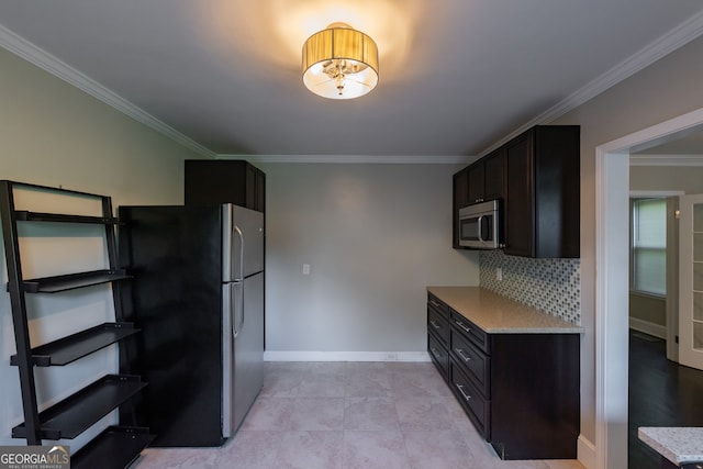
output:
[[[182,203],[182,160],[199,156],[119,111],[49,76],[0,48],[0,176],[21,182],[113,197],[120,203]],[[18,198],[20,202],[20,198]],[[31,198],[30,198],[31,199]],[[35,201],[21,198],[25,209]],[[40,211],[77,210],[75,201],[43,200]],[[103,261],[103,244],[94,231],[62,228],[65,239],[52,239],[45,231],[23,232],[26,278],[90,269]],[[80,236],[76,238],[76,236]],[[77,242],[76,242],[77,241]],[[41,253],[35,256],[33,253]],[[8,281],[4,252],[0,284]],[[100,267],[100,266],[98,266]],[[94,268],[94,267],[93,267]],[[31,339],[38,345],[114,320],[111,290],[107,286],[56,295],[29,295]],[[10,299],[0,289],[0,445],[21,445],[10,431],[21,423],[22,402],[16,367]],[[36,369],[40,400],[56,402],[107,372],[114,372],[114,347],[66,367]],[[112,422],[113,415],[100,425]],[[99,426],[63,444],[77,450]]]

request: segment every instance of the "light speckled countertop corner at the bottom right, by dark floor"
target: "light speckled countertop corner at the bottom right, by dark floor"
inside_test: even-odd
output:
[[[703,461],[703,427],[640,426],[637,436],[677,466]]]

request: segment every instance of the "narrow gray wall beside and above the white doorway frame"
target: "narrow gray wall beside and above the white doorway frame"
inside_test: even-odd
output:
[[[703,37],[559,118],[581,125],[581,433],[595,442],[595,148],[703,108]],[[622,314],[627,314],[623,311]]]

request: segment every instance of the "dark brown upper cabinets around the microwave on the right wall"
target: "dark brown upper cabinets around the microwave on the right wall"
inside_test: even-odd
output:
[[[493,199],[505,254],[579,257],[580,127],[537,125],[455,174],[455,248],[459,209]]]

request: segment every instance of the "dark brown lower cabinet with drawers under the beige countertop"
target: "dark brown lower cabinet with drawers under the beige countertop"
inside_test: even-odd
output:
[[[502,459],[576,459],[580,335],[488,334],[432,294],[427,309],[429,356],[496,454]],[[448,344],[432,324],[443,312]]]

